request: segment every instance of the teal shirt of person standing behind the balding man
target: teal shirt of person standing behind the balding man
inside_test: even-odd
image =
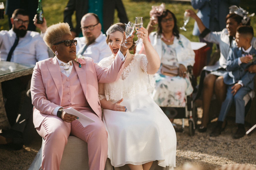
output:
[[[100,19],[100,23],[101,23],[101,31],[103,32],[104,28],[103,28],[102,8],[103,8],[103,0],[89,0],[88,12],[92,12],[92,13],[98,15],[98,17]]]

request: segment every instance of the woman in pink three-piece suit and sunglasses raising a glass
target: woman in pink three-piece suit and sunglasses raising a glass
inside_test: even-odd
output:
[[[128,47],[132,45],[132,38],[127,40]],[[113,82],[120,77],[127,48],[120,48],[111,67],[104,68],[89,57],[84,57],[80,63],[74,61],[77,42],[67,23],[51,25],[44,41],[56,56],[37,62],[31,80],[33,122],[38,134],[45,139],[42,169],[59,169],[71,134],[88,143],[90,169],[103,170],[108,134],[101,120],[98,82]],[[95,122],[83,127],[79,117],[62,110],[69,107]]]

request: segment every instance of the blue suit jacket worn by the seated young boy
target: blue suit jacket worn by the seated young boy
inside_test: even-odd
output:
[[[256,50],[252,47],[249,54],[256,54]],[[223,81],[225,84],[232,85],[241,80],[244,86],[253,89],[253,78],[255,73],[249,73],[248,71],[245,71],[245,69],[252,64],[256,64],[256,60],[249,63],[241,63],[239,66],[238,58],[241,56],[241,48],[235,47],[229,51],[226,68],[228,72],[223,75]]]

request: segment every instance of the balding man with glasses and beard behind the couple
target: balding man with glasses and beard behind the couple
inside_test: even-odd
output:
[[[76,37],[77,54],[91,57],[95,63],[111,56],[111,50],[106,43],[106,35],[101,32],[99,17],[88,13],[81,19],[83,37]]]

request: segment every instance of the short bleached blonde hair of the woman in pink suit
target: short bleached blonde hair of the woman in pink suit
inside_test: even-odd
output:
[[[68,23],[57,23],[53,24],[46,29],[43,40],[45,44],[52,50],[52,45],[61,41],[61,38],[65,34],[71,34]]]

